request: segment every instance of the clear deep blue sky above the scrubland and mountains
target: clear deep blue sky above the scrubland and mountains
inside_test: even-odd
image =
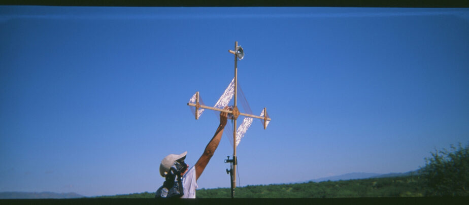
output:
[[[155,191],[193,165],[233,78],[254,114],[238,186],[408,172],[469,141],[469,10],[0,6],[0,191]],[[229,187],[224,135],[198,180]]]

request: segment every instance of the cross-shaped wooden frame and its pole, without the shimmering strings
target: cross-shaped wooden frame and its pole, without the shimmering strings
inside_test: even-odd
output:
[[[251,118],[258,118],[264,120],[264,129],[267,127],[267,121],[271,121],[271,118],[267,117],[267,109],[264,108],[263,114],[264,116],[256,116],[256,115],[250,115],[246,113],[240,113],[237,105],[238,101],[238,42],[235,42],[235,51],[233,50],[228,50],[229,53],[235,54],[235,105],[233,106],[232,110],[224,110],[224,109],[218,109],[218,108],[213,108],[209,106],[204,106],[199,104],[199,93],[198,91],[195,93],[195,104],[193,103],[187,103],[188,106],[193,106],[195,107],[195,119],[198,120],[198,109],[203,108],[203,109],[209,109],[209,110],[214,110],[214,111],[220,111],[220,112],[226,112],[230,113],[233,115],[233,158],[230,160],[228,156],[228,160],[225,160],[225,162],[230,162],[231,163],[231,168],[230,170],[226,170],[227,173],[230,174],[231,176],[231,197],[235,197],[235,188],[236,188],[236,165],[238,164],[238,160],[236,157],[236,129],[237,129],[237,124],[236,120],[240,115],[245,116],[245,117],[251,117]]]

